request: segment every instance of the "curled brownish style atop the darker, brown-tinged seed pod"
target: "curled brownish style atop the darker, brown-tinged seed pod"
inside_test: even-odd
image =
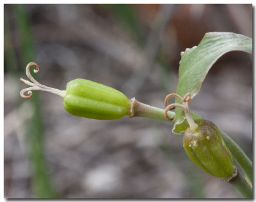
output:
[[[168,105],[168,100],[170,99],[170,97],[177,97],[178,99],[180,99],[180,101],[182,101],[182,104],[179,104],[179,103],[172,103],[170,105]],[[180,97],[178,94],[175,94],[175,93],[172,93],[172,94],[169,94],[168,96],[165,97],[164,99],[164,106],[166,107],[165,110],[164,110],[164,117],[168,120],[173,120],[173,118],[170,118],[168,117],[168,111],[169,110],[173,110],[175,107],[180,107],[182,108],[182,110],[184,110],[184,113],[186,115],[186,119],[188,120],[188,124],[190,126],[190,128],[192,130],[196,129],[198,127],[197,124],[195,124],[193,118],[191,117],[191,114],[189,112],[189,101],[191,101],[191,95],[190,93],[186,93],[186,95],[182,98]]]

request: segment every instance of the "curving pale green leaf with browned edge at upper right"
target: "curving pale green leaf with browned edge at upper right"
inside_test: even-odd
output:
[[[181,54],[176,93],[183,97],[189,92],[192,98],[195,97],[214,62],[233,50],[252,53],[252,38],[232,32],[206,33],[198,47],[187,48]],[[177,98],[175,102],[181,103]],[[196,118],[195,114],[192,116]],[[186,129],[188,123],[184,122],[185,118],[183,110],[176,108],[173,133],[179,134]]]

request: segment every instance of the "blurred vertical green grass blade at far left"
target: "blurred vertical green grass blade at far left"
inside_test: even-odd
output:
[[[31,29],[28,15],[23,4],[13,4],[13,11],[17,22],[17,31],[20,38],[20,57],[22,66],[33,60],[34,50],[31,40]],[[51,177],[47,172],[44,157],[44,136],[41,122],[40,103],[38,93],[33,94],[31,99],[35,113],[31,119],[27,131],[29,160],[32,171],[32,186],[35,198],[57,198],[56,191],[51,183]]]

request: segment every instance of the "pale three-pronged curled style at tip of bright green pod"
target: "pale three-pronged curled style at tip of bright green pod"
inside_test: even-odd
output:
[[[61,97],[65,96],[66,90],[54,89],[54,88],[47,87],[46,85],[42,85],[41,83],[36,82],[35,78],[33,78],[33,76],[31,76],[30,71],[29,71],[29,68],[31,66],[36,67],[34,69],[34,73],[38,73],[38,71],[39,71],[39,66],[35,62],[29,62],[29,64],[26,66],[26,75],[28,76],[29,80],[31,80],[31,82],[29,82],[28,80],[24,80],[23,78],[20,78],[20,82],[24,83],[26,85],[29,85],[31,87],[21,90],[20,91],[21,97],[29,99],[32,96],[31,90],[43,90],[43,91],[51,92],[51,93],[56,94]],[[25,92],[28,92],[28,96],[26,96],[24,94]]]

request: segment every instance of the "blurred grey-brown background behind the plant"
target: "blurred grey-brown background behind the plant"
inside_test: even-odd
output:
[[[86,78],[164,108],[180,52],[210,31],[252,37],[252,4],[4,4],[4,196],[239,198],[191,162],[167,122],[74,117],[59,96],[19,94],[33,61],[44,85]],[[252,82],[252,55],[230,52],[190,104],[251,159]]]

